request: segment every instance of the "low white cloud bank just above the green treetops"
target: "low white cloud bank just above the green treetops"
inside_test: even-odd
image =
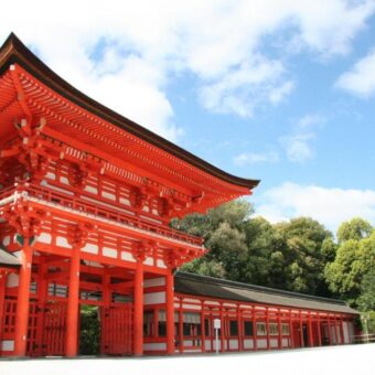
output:
[[[330,189],[285,182],[258,197],[256,214],[272,223],[310,216],[331,231],[354,216],[375,224],[375,190]]]

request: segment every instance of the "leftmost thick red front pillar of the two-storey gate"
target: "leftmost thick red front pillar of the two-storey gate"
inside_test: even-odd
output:
[[[30,246],[30,239],[25,237],[22,249],[22,265],[19,274],[19,290],[17,298],[14,335],[15,356],[24,356],[26,354],[32,257],[33,251]]]

